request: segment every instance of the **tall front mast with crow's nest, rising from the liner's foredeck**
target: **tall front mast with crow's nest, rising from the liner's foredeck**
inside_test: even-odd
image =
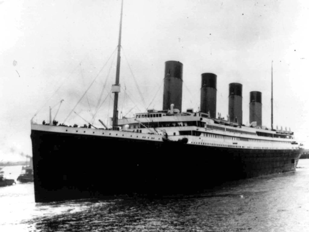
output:
[[[112,86],[112,92],[115,93],[114,97],[114,111],[113,111],[113,125],[112,129],[117,129],[118,120],[118,93],[120,92],[119,74],[120,74],[120,48],[121,48],[121,25],[122,25],[122,8],[123,0],[121,1],[121,14],[120,14],[120,26],[119,26],[119,39],[118,39],[118,53],[117,53],[117,67],[116,67],[116,83]]]

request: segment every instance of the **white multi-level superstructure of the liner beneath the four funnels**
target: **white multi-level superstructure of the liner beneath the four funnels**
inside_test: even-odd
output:
[[[180,135],[184,134],[185,131],[189,133],[190,128],[188,127],[197,127],[197,130],[198,128],[205,128],[208,133],[247,138],[258,137],[273,141],[294,139],[294,133],[291,131],[240,125],[222,118],[211,118],[207,113],[192,111],[171,113],[169,111],[151,110],[147,113],[138,113],[132,118],[118,119],[118,126],[121,129],[142,133],[156,133],[156,129],[165,129],[171,135]]]

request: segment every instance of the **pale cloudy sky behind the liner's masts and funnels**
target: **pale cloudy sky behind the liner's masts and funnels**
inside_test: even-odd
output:
[[[56,120],[68,116],[116,48],[120,6],[116,0],[0,0],[0,161],[32,154],[30,119],[45,103],[34,121],[48,121],[49,106],[54,116],[61,99]],[[308,147],[308,15],[305,0],[125,0],[120,82],[134,102],[124,101],[122,90],[119,111],[125,115],[135,105],[127,116],[145,111],[158,89],[150,108],[162,109],[164,62],[177,60],[184,64],[183,110],[197,110],[201,73],[213,72],[217,112],[226,116],[228,84],[239,82],[243,123],[249,121],[249,92],[261,91],[262,122],[270,127],[273,60],[274,127],[290,127]],[[112,116],[115,66],[114,55],[75,109],[91,121],[107,80],[96,125]],[[66,124],[74,123],[85,122],[73,113]]]

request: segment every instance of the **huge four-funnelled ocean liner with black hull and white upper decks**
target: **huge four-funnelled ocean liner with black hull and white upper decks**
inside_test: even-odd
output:
[[[227,118],[216,117],[217,76],[203,73],[200,109],[183,111],[179,61],[165,62],[162,110],[119,119],[120,48],[121,23],[111,129],[103,123],[101,129],[57,125],[51,115],[48,124],[31,122],[36,202],[189,194],[228,180],[295,171],[300,148],[294,133],[273,129],[273,120],[270,129],[262,126],[261,92],[250,92],[250,126],[242,123],[240,83],[229,84]]]

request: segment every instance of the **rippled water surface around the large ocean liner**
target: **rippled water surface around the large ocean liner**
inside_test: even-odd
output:
[[[33,183],[17,183],[0,188],[0,207],[0,231],[309,231],[309,159],[295,173],[155,200],[35,203]]]

